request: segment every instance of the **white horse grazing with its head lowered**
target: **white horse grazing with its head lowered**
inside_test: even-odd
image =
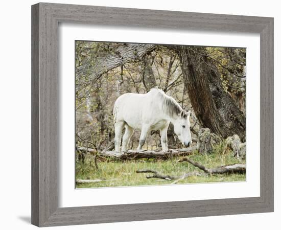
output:
[[[192,143],[190,111],[185,112],[175,99],[158,88],[152,88],[147,94],[121,95],[114,103],[113,116],[115,151],[120,151],[124,127],[122,151],[127,151],[134,129],[141,130],[138,150],[142,149],[150,130],[160,130],[162,150],[168,151],[167,129],[170,122],[184,146],[188,147]]]

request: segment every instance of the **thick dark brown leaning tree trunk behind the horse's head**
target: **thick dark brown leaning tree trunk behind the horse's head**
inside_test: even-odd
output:
[[[216,66],[201,47],[177,47],[185,87],[196,117],[203,127],[226,138],[238,134],[245,140],[246,119],[221,83]]]

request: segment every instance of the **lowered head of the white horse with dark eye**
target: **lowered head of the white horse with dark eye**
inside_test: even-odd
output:
[[[192,143],[189,121],[190,113],[191,111],[185,112],[182,110],[174,122],[174,131],[185,147],[189,147]]]

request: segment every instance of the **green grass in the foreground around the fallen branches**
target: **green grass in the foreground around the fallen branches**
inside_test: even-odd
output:
[[[158,178],[147,179],[146,175],[151,173],[136,173],[136,170],[152,169],[165,175],[182,175],[187,172],[200,171],[193,165],[182,162],[178,163],[180,157],[169,160],[141,159],[120,161],[109,159],[105,162],[98,162],[99,169],[95,167],[92,157],[82,162],[76,163],[76,179],[103,179],[105,181],[96,183],[78,183],[76,188],[98,188],[116,186],[149,186],[149,185],[168,185],[173,181]],[[229,149],[224,151],[224,145],[218,145],[211,154],[201,155],[194,152],[189,156],[195,162],[207,168],[219,167],[222,165],[232,165],[236,163],[245,164],[245,160],[233,157]],[[191,176],[182,179],[177,183],[205,183],[205,182],[225,182],[225,181],[245,181],[246,174],[214,174]]]

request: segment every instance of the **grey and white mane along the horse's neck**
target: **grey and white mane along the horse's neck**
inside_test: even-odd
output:
[[[176,102],[176,100],[164,93],[163,90],[158,88],[152,88],[152,90],[157,90],[157,96],[159,96],[163,102],[163,112],[166,113],[168,116],[170,116],[173,119],[178,118],[178,116],[181,114],[183,109],[180,107],[180,105]]]

